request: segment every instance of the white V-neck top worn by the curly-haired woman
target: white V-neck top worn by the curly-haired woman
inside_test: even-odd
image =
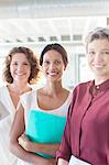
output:
[[[15,108],[7,86],[0,88],[0,101],[9,111],[9,116],[0,121],[0,164],[17,165],[17,157],[9,151],[9,133],[14,118]]]

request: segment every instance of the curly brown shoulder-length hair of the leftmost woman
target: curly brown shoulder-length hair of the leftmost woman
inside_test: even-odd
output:
[[[3,69],[3,74],[2,74],[3,79],[9,84],[13,82],[13,77],[11,76],[11,73],[10,73],[10,64],[11,64],[13,55],[17,54],[17,53],[25,54],[25,56],[26,56],[26,58],[30,63],[30,66],[31,66],[31,74],[30,74],[28,82],[29,84],[35,84],[36,80],[37,80],[37,77],[39,77],[37,76],[39,72],[40,72],[36,55],[34,55],[32,50],[30,50],[28,47],[22,47],[22,46],[21,47],[13,47],[9,52],[9,54],[6,56],[4,69]]]

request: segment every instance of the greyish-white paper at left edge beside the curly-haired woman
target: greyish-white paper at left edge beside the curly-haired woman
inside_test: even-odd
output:
[[[10,114],[9,111],[7,110],[7,108],[0,101],[0,120],[4,119],[9,114]]]

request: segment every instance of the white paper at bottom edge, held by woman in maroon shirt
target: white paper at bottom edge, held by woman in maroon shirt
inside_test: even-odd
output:
[[[68,165],[91,165],[91,164],[84,162],[84,161],[75,157],[74,155],[72,155]]]

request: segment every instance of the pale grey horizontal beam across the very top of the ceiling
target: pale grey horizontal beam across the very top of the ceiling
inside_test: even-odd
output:
[[[0,0],[0,18],[109,15],[109,0]]]

